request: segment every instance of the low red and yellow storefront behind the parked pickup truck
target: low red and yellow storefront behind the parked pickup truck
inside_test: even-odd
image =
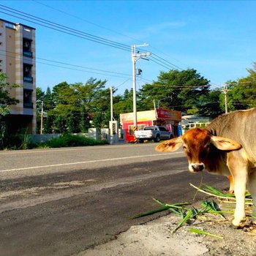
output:
[[[178,136],[178,123],[181,121],[181,111],[157,108],[155,110],[137,112],[137,127],[142,129],[146,126],[158,125],[165,127],[173,135]],[[127,142],[132,142],[134,138],[133,113],[120,114],[122,129],[125,130]]]

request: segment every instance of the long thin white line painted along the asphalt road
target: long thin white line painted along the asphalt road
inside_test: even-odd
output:
[[[23,167],[23,168],[15,168],[9,170],[0,170],[1,173],[4,172],[11,172],[15,170],[30,170],[30,169],[38,169],[38,168],[45,168],[45,167],[57,167],[57,166],[64,166],[64,165],[80,165],[80,164],[88,164],[91,162],[106,162],[106,161],[116,161],[116,160],[124,160],[124,159],[132,159],[132,158],[139,158],[139,157],[163,157],[168,154],[183,154],[183,152],[174,152],[174,153],[165,153],[165,154],[148,154],[143,156],[133,156],[133,157],[118,157],[118,158],[109,158],[109,159],[99,159],[99,160],[90,160],[84,162],[67,162],[65,164],[57,164],[57,165],[40,165],[40,166],[32,166],[32,167]]]

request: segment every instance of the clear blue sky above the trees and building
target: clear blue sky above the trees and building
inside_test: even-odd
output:
[[[246,68],[256,61],[256,1],[9,0],[0,4],[124,45],[146,42],[149,46],[144,50],[180,69],[196,69],[211,80],[212,88],[246,76]],[[37,86],[44,91],[63,81],[85,83],[91,77],[108,80],[106,87],[118,87],[119,94],[132,88],[129,51],[63,34],[1,12],[0,18],[37,29]],[[106,70],[108,75],[94,74],[89,69],[82,72],[81,67],[52,61]],[[160,71],[168,70],[153,61],[140,60],[137,66],[143,69],[138,89],[157,80]]]

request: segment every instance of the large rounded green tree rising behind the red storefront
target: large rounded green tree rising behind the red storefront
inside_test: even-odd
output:
[[[152,102],[162,108],[199,113],[198,99],[209,92],[209,80],[203,78],[195,69],[170,70],[160,72],[157,81],[146,84],[139,91],[145,108],[152,108]]]

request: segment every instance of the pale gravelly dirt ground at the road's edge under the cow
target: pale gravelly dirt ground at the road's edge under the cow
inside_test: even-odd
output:
[[[203,216],[192,224],[182,226],[176,233],[171,233],[181,219],[170,214],[145,225],[132,226],[116,236],[116,240],[87,249],[76,256],[256,255],[256,230],[234,229],[231,225],[232,216],[226,217],[223,220],[215,216]],[[192,227],[222,238],[191,233]]]

